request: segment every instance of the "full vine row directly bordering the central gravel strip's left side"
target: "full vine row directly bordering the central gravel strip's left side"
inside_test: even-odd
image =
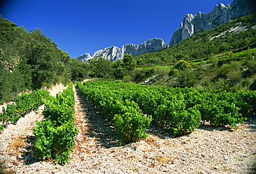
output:
[[[34,130],[35,157],[37,160],[47,158],[56,159],[57,164],[69,162],[69,155],[74,148],[74,139],[77,134],[75,128],[75,97],[73,84],[63,93],[51,97],[45,104],[44,120],[36,121]]]

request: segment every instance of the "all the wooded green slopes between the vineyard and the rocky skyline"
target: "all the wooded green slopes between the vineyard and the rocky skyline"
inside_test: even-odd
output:
[[[0,102],[24,90],[86,78],[145,84],[154,76],[158,80],[151,85],[156,86],[255,90],[255,19],[252,12],[161,51],[84,63],[71,59],[41,30],[27,32],[1,18]]]

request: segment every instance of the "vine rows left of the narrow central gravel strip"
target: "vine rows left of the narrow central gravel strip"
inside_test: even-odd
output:
[[[34,135],[35,157],[37,160],[46,158],[56,159],[57,164],[69,162],[69,155],[74,148],[73,137],[77,133],[75,128],[75,101],[73,84],[68,84],[63,93],[51,96],[46,90],[35,90],[33,93],[25,93],[15,99],[15,103],[8,104],[0,113],[2,119],[1,130],[8,123],[16,124],[19,118],[31,110],[37,110],[45,105],[42,122],[36,121]]]

